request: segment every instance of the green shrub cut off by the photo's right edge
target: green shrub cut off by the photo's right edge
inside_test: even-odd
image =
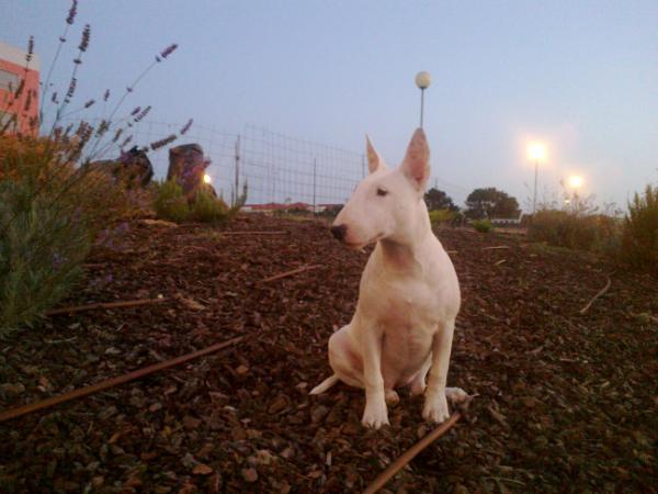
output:
[[[644,197],[635,193],[624,218],[621,257],[658,274],[658,188],[647,186]]]

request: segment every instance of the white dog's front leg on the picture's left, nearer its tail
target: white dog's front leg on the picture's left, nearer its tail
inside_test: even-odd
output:
[[[382,377],[382,338],[376,327],[362,328],[361,352],[363,356],[363,388],[365,389],[365,409],[361,423],[378,429],[388,425],[388,411]]]

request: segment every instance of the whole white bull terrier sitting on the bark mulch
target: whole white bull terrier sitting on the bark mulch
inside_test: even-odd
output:
[[[393,170],[367,139],[370,176],[331,227],[351,248],[376,246],[361,277],[352,321],[329,338],[333,375],[310,394],[320,394],[339,380],[364,389],[362,423],[376,429],[388,424],[386,403],[399,400],[395,388],[410,385],[412,394],[424,392],[422,416],[434,423],[449,417],[446,398],[467,397],[458,388],[445,388],[460,283],[432,233],[423,201],[429,158],[421,128],[413,133],[402,164]]]

